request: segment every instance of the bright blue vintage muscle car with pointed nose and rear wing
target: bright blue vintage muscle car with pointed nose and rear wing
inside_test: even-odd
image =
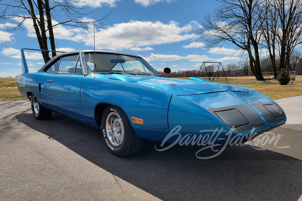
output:
[[[56,112],[101,128],[117,156],[139,151],[143,139],[194,145],[211,136],[213,146],[230,138],[243,143],[286,121],[282,108],[255,90],[196,77],[165,78],[137,55],[65,52],[34,73],[28,72],[24,49],[21,58],[18,90],[31,100],[34,117],[46,120]]]

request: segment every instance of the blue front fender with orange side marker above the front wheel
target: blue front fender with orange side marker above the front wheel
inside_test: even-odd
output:
[[[84,116],[95,118],[95,107],[107,103],[120,107],[135,127],[168,130],[168,107],[171,94],[152,86],[105,78],[84,77],[81,105]],[[134,123],[131,117],[143,119]]]

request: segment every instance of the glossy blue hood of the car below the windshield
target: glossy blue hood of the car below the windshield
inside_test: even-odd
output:
[[[212,83],[207,80],[196,77],[191,77],[190,80],[183,80],[146,75],[141,76],[112,74],[108,77],[108,79],[147,85],[161,90],[165,90],[173,95],[194,95],[222,91],[254,92],[254,90],[241,86]]]

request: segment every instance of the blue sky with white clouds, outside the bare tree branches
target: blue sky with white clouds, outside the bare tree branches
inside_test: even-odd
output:
[[[10,0],[4,0],[10,2]],[[204,48],[198,28],[206,14],[217,9],[214,0],[86,0],[77,5],[89,18],[100,19],[110,13],[95,33],[95,48],[142,56],[154,69],[172,71],[199,69],[202,62],[237,63],[239,54],[230,46]],[[5,7],[0,5],[0,10]],[[23,29],[4,32],[11,24],[0,21],[0,77],[22,73],[21,48],[40,49],[32,21]],[[93,36],[78,27],[59,25],[54,30],[56,49],[93,50]],[[50,45],[48,46],[50,49]],[[29,72],[40,69],[40,52],[27,51]]]

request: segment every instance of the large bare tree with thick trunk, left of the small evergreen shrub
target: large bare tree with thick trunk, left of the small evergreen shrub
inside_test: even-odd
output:
[[[205,39],[206,47],[235,44],[247,51],[250,68],[257,80],[264,80],[260,69],[259,32],[263,23],[261,0],[217,0],[219,8],[207,15],[199,36]]]

